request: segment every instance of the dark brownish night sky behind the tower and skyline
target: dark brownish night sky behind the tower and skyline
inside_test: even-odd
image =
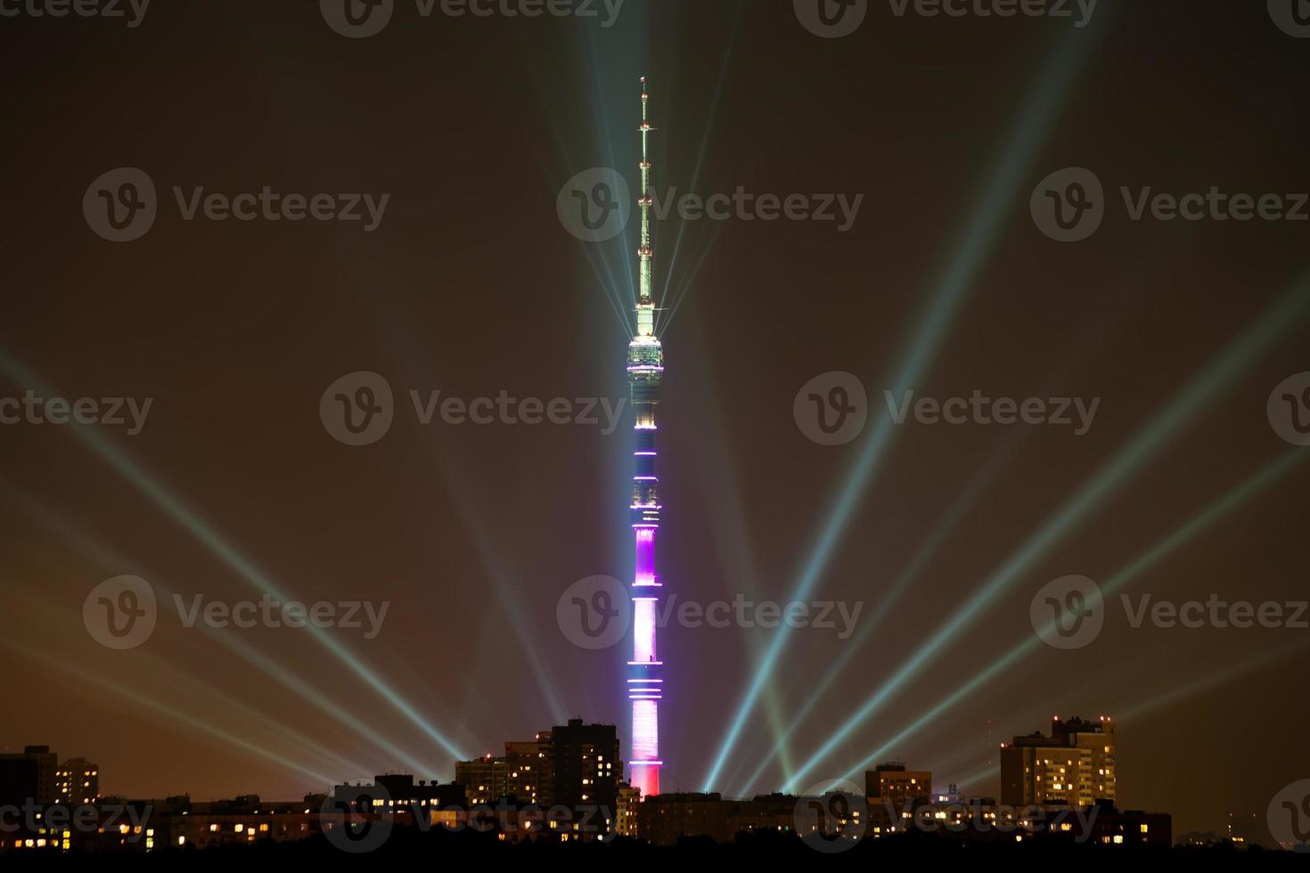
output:
[[[1108,582],[1271,465],[1123,592],[1306,599],[1310,448],[1280,438],[1267,401],[1310,369],[1310,221],[1132,220],[1120,188],[1310,191],[1310,39],[1238,0],[1102,0],[1083,27],[1076,4],[1073,20],[893,8],[870,0],[833,39],[782,1],[627,0],[604,26],[599,3],[596,18],[481,18],[396,0],[359,39],[308,0],[155,0],[135,27],[0,18],[0,398],[152,398],[136,435],[0,425],[0,745],[86,757],[106,793],[193,798],[293,798],[329,787],[317,776],[415,762],[449,780],[452,749],[495,751],[570,716],[618,724],[626,751],[629,644],[572,645],[555,606],[576,580],[631,575],[630,415],[612,435],[424,425],[409,391],[625,397],[637,223],[580,242],[557,195],[595,166],[639,187],[647,75],[659,192],[863,195],[845,230],[675,209],[655,232],[665,584],[785,602],[811,571],[802,599],[863,603],[859,630],[878,616],[791,736],[789,768],[914,664],[799,788],[884,751],[939,789],[994,796],[997,745],[1052,715],[1115,717],[1121,804],[1174,813],[1175,834],[1263,814],[1310,776],[1310,630],[1134,628],[1117,593],[1090,645],[1039,643],[904,730],[1034,639],[1043,585]],[[1030,196],[1070,166],[1103,183],[1106,215],[1058,242]],[[83,211],[115,168],[159,190],[131,242]],[[389,200],[371,232],[187,221],[174,186]],[[880,428],[909,360],[916,395],[1100,403],[1082,436]],[[355,370],[396,394],[367,446],[318,414]],[[863,433],[840,446],[793,416],[832,370],[869,395]],[[83,624],[119,575],[160,598],[155,633],[122,652]],[[376,639],[186,628],[172,609],[173,593],[234,602],[261,585],[390,606]],[[662,628],[665,789],[702,788],[781,632]],[[774,758],[745,784],[854,644],[789,633],[717,789],[787,781]]]

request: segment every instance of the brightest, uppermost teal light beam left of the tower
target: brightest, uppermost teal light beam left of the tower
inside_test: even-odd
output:
[[[56,391],[52,391],[47,386],[42,385],[41,380],[30,373],[5,349],[0,349],[0,370],[4,370],[9,380],[18,386],[39,390],[47,397],[58,395]],[[290,599],[282,590],[278,589],[271,579],[269,579],[253,563],[250,563],[249,559],[223,539],[217,531],[206,525],[199,516],[182,503],[179,497],[174,496],[153,476],[147,474],[145,470],[143,470],[136,462],[106,441],[93,427],[77,424],[69,424],[68,427],[72,433],[89,446],[101,459],[106,461],[119,475],[127,479],[147,497],[153,500],[176,522],[185,527],[193,537],[220,558],[246,582],[261,593],[267,593],[282,601]],[[350,652],[324,628],[314,627],[310,623],[305,631],[309,632],[310,636],[320,645],[328,649],[338,661],[346,665],[351,673],[363,679],[371,688],[373,688],[375,692],[409,719],[427,737],[440,745],[456,760],[465,758],[455,743],[447,739],[440,730],[428,724],[428,721],[417,709],[414,709],[414,707],[411,707],[394,688],[383,681],[377,673],[367,666],[359,656]]]

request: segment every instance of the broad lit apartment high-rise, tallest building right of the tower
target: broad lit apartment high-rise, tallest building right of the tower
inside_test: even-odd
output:
[[[1116,801],[1115,722],[1052,719],[1051,736],[1036,732],[1001,746],[1001,802],[1013,806],[1093,806]]]

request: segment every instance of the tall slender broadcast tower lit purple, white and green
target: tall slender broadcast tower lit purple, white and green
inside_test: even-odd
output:
[[[664,373],[664,349],[655,338],[655,301],[651,298],[651,162],[646,140],[654,130],[646,116],[646,77],[642,76],[642,245],[641,289],[637,297],[637,335],[627,344],[627,386],[631,391],[637,432],[634,452],[631,521],[637,539],[633,575],[633,660],[627,662],[627,699],[633,703],[631,784],[642,797],[659,793],[659,704],[663,699],[663,662],[655,648],[655,616],[660,611],[663,585],[655,572],[655,534],[659,533],[659,479],[655,478],[655,412],[659,380]]]

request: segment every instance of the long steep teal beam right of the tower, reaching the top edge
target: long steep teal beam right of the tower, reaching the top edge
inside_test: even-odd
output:
[[[1023,188],[1023,179],[1028,175],[1040,145],[1045,141],[1055,119],[1064,107],[1065,93],[1072,86],[1078,71],[1082,69],[1093,46],[1098,45],[1099,31],[1104,29],[1110,17],[1100,16],[1087,29],[1070,31],[1047,59],[1036,85],[1024,101],[1023,111],[1011,128],[1002,157],[992,171],[990,182],[982,191],[977,207],[960,228],[952,246],[954,255],[948,259],[948,267],[935,279],[931,300],[926,310],[920,313],[914,339],[908,348],[900,372],[892,381],[897,393],[914,387],[914,382],[922,377],[929,361],[945,339],[960,301],[972,285],[975,276],[981,271],[986,255],[1001,237],[1005,219]],[[855,508],[880,472],[884,453],[892,438],[892,428],[891,415],[883,410],[866,438],[863,452],[854,469],[844,478],[846,484],[824,521],[791,599],[808,599],[810,592],[827,569]],[[778,630],[769,650],[756,669],[755,677],[747,686],[736,715],[719,743],[718,754],[705,775],[703,791],[713,791],[723,764],[736,747],[738,736],[745,726],[760,692],[772,678],[773,669],[787,644],[789,631],[790,628]]]

